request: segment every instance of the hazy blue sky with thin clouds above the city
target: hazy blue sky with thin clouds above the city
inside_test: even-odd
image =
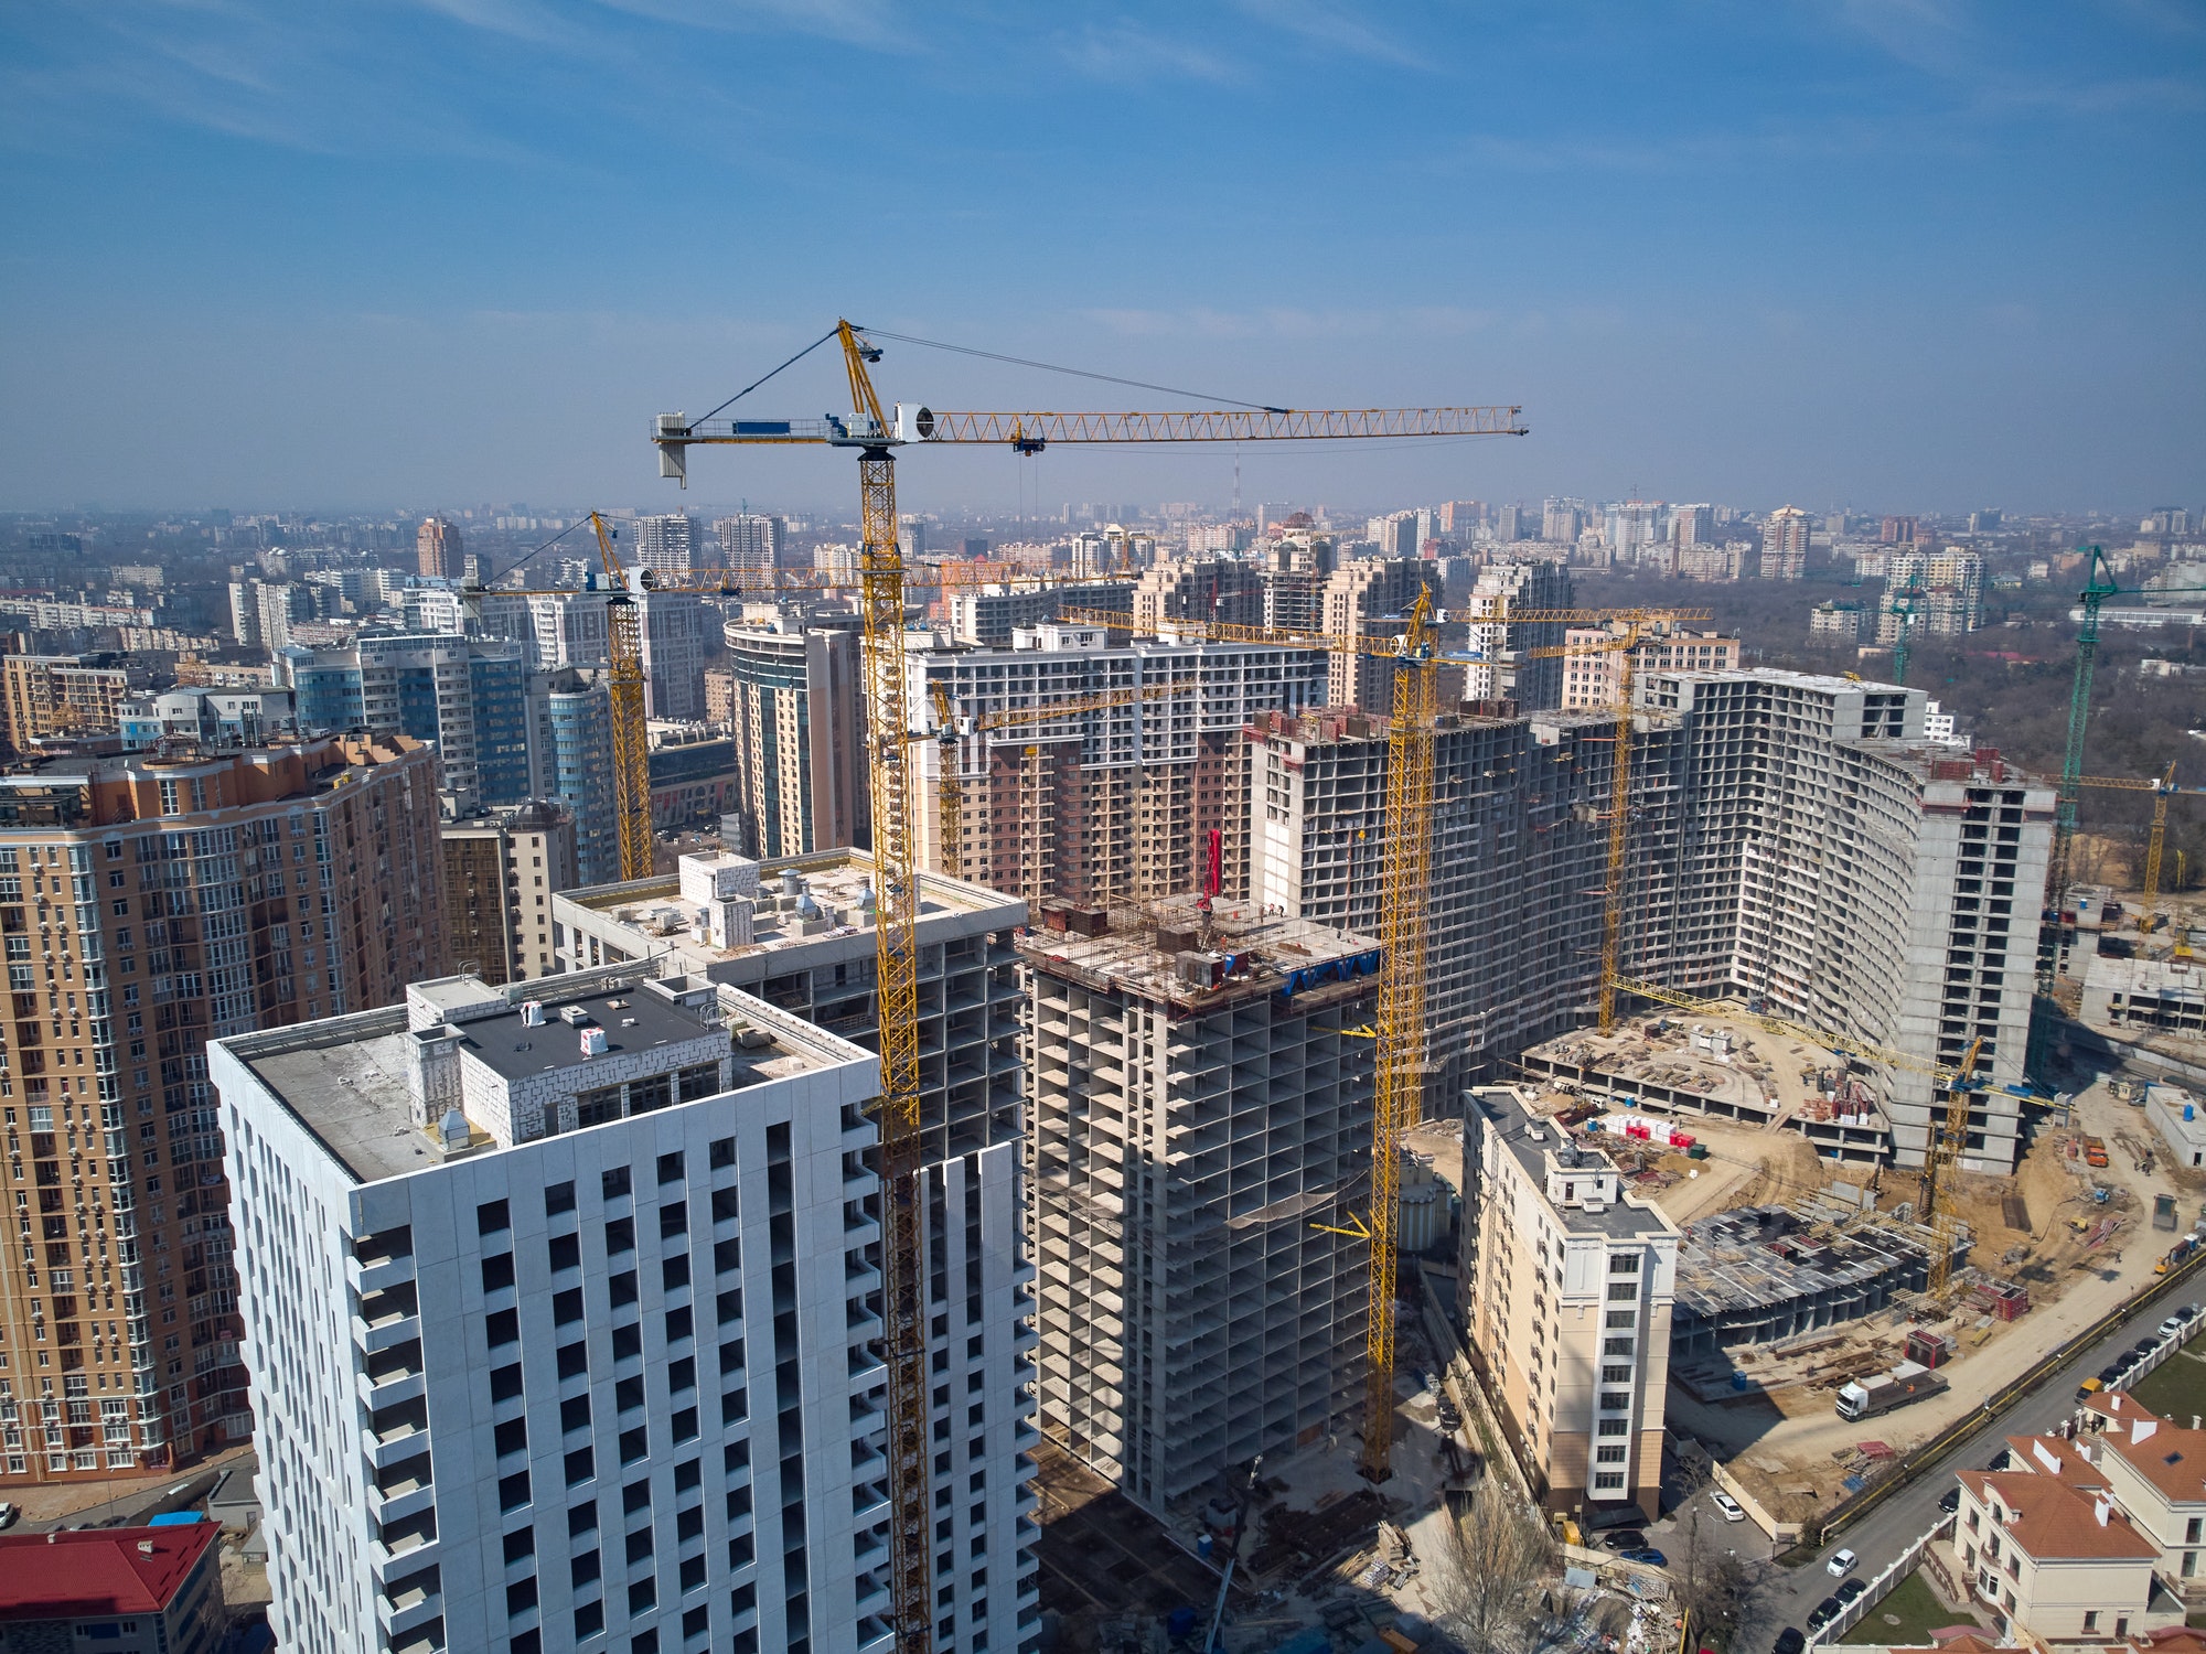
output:
[[[1533,428],[1244,448],[1251,501],[2197,507],[2202,172],[2202,0],[18,0],[0,507],[664,503],[649,417],[838,313]],[[821,359],[752,406],[843,399]],[[902,492],[1224,503],[1231,459]],[[847,470],[706,452],[688,501]]]

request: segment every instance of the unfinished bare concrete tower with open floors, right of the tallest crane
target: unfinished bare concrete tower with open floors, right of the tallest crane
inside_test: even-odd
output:
[[[1377,944],[1182,898],[1019,955],[1043,1427],[1152,1511],[1352,1431]]]

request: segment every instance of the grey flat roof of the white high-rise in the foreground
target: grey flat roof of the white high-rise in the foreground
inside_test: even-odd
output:
[[[607,1054],[673,1045],[715,1028],[746,1034],[752,1043],[737,1039],[728,1052],[735,1092],[792,1074],[871,1061],[856,1045],[735,988],[717,990],[719,1021],[671,1006],[642,992],[635,966],[578,975],[571,981],[582,990],[569,988],[565,997],[556,990],[563,981],[558,977],[512,988],[485,988],[459,977],[448,981],[463,984],[459,1001],[481,1003],[483,995],[507,997],[510,1010],[448,1023],[461,1037],[461,1059],[483,1063],[505,1081],[585,1063],[580,1030],[558,1019],[560,1006],[567,1003],[585,1006],[593,1023],[604,1028]],[[430,990],[424,997],[439,999],[435,990],[443,986],[421,984],[415,992]],[[518,1006],[525,997],[540,999],[543,1025],[529,1028],[521,1021]],[[624,1017],[635,1017],[635,1025],[622,1028]],[[415,1037],[408,1030],[406,1006],[245,1034],[225,1043],[355,1182],[399,1178],[443,1162],[435,1134],[413,1123],[408,1063]],[[496,1151],[496,1140],[476,1129],[474,1149]]]

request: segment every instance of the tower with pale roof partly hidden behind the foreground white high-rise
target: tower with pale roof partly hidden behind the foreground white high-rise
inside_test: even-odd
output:
[[[765,869],[743,856],[684,856],[673,878],[567,891],[552,906],[571,970],[651,962],[874,1050],[874,878],[871,858],[849,849]],[[1024,922],[1015,898],[920,878],[935,1645],[975,1654],[1032,1639],[1030,1588],[1004,1590],[1006,1555],[1035,1539],[1021,1493],[1037,1440],[1035,1264],[1019,1189],[1026,992],[1010,946]],[[975,1564],[975,1546],[993,1561]],[[1017,1561],[1017,1579],[1032,1572],[1030,1555]]]

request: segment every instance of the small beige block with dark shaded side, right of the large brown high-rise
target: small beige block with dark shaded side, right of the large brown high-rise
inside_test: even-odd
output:
[[[576,884],[574,816],[529,801],[448,820],[441,836],[452,962],[488,984],[556,975],[552,895]]]

